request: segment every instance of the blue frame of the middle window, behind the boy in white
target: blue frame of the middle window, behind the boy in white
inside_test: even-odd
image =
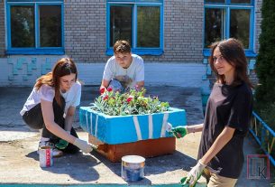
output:
[[[108,56],[114,55],[113,47],[110,46],[110,12],[111,6],[113,5],[126,5],[132,6],[132,43],[131,43],[131,51],[135,54],[139,55],[161,55],[163,53],[163,0],[107,0],[106,2],[106,51],[105,54]],[[156,48],[143,48],[137,47],[137,7],[138,6],[158,6],[160,7],[160,47]]]

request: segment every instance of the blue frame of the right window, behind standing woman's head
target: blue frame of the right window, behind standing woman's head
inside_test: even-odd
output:
[[[249,28],[249,47],[247,49],[244,49],[245,55],[247,57],[256,57],[257,54],[254,51],[254,37],[255,37],[255,6],[254,6],[254,0],[251,0],[250,4],[231,4],[231,0],[225,0],[225,3],[206,3],[204,5],[204,34],[203,34],[203,53],[204,56],[210,56],[211,50],[209,48],[205,48],[205,32],[206,32],[206,8],[215,8],[215,9],[225,9],[225,25],[224,29],[225,32],[223,35],[225,36],[224,39],[230,38],[230,13],[231,10],[250,10],[250,28]]]

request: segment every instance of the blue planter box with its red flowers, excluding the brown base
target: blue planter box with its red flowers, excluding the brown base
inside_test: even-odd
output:
[[[168,122],[173,126],[186,125],[184,109],[170,108],[158,98],[143,95],[143,90],[124,94],[109,90],[96,98],[92,107],[79,109],[80,126],[98,140],[116,145],[168,137]]]

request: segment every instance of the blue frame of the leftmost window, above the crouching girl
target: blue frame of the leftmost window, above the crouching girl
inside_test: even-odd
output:
[[[11,6],[33,5],[34,7],[34,47],[12,47],[11,33]],[[61,46],[41,47],[40,46],[40,5],[60,5],[61,12]],[[7,50],[6,54],[64,54],[64,3],[63,0],[6,0],[6,33]]]

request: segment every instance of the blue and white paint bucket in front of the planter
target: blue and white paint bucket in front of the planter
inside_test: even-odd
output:
[[[122,157],[121,176],[126,182],[137,182],[144,178],[145,158],[139,155]]]

